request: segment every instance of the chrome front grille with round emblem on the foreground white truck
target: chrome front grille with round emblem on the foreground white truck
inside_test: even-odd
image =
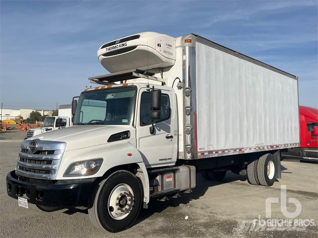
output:
[[[66,143],[39,139],[34,141],[38,145],[35,153],[30,153],[34,147],[33,141],[25,140],[22,142],[16,174],[34,179],[55,179]]]

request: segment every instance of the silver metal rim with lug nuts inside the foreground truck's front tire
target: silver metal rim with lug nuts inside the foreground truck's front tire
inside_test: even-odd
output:
[[[108,212],[115,220],[124,219],[130,213],[134,203],[134,193],[126,183],[115,186],[108,198]]]

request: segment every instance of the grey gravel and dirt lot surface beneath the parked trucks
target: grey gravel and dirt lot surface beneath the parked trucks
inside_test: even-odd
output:
[[[135,224],[119,233],[95,228],[84,207],[51,213],[30,204],[28,209],[18,207],[17,200],[7,195],[5,177],[15,168],[25,134],[18,130],[0,133],[0,237],[318,237],[317,164],[294,161],[282,161],[282,179],[272,187],[250,185],[231,172],[223,182],[205,181],[199,175],[193,193],[181,193],[180,198],[166,202],[151,201]],[[294,219],[314,219],[315,226],[249,227],[253,219],[258,224],[259,215],[265,219],[267,198],[280,201],[280,185],[287,186],[287,211],[296,208],[288,198],[299,200],[301,213]],[[271,214],[272,219],[287,219],[280,203],[272,204]]]

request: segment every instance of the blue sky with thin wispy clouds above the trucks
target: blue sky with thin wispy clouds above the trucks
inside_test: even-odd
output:
[[[195,33],[299,77],[318,108],[317,1],[0,1],[3,109],[70,104],[107,74],[98,48],[144,31]]]

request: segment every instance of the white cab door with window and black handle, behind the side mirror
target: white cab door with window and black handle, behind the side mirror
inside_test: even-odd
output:
[[[175,95],[161,90],[160,119],[154,119],[155,133],[150,134],[152,119],[149,117],[150,92],[142,88],[138,96],[136,138],[137,149],[142,154],[146,167],[172,165],[176,161],[177,131],[174,110]]]

